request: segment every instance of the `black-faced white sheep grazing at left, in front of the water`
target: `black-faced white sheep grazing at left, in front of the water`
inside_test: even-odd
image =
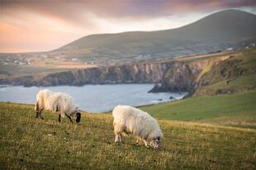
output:
[[[76,117],[76,122],[80,122],[81,113],[78,111],[78,106],[73,103],[73,99],[69,94],[62,92],[53,92],[50,90],[40,90],[36,95],[36,118],[41,116],[43,110],[50,110],[51,112],[59,113],[59,122],[61,122],[61,117],[69,117],[70,122],[71,117]]]

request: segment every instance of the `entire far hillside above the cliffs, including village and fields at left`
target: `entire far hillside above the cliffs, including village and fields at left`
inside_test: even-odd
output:
[[[254,47],[256,16],[228,10],[171,30],[91,34],[42,53],[0,53],[0,79],[60,71],[159,62]]]

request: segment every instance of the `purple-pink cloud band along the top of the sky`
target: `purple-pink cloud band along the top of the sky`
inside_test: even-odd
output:
[[[256,7],[254,0],[2,0],[2,10],[26,10],[68,21],[84,21],[84,14],[100,17],[148,18],[177,13]]]

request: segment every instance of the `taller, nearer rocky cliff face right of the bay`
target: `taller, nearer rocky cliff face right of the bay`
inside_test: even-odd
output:
[[[192,94],[196,87],[201,86],[201,77],[204,77],[205,73],[211,70],[211,67],[227,58],[218,57],[195,62],[169,63],[164,71],[162,84],[155,85],[149,92],[175,91]]]

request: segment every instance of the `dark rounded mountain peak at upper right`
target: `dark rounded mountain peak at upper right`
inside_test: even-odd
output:
[[[239,11],[219,11],[190,25],[176,30],[165,30],[175,39],[191,39],[194,42],[232,42],[256,36],[256,16]],[[167,32],[168,31],[168,32]]]

